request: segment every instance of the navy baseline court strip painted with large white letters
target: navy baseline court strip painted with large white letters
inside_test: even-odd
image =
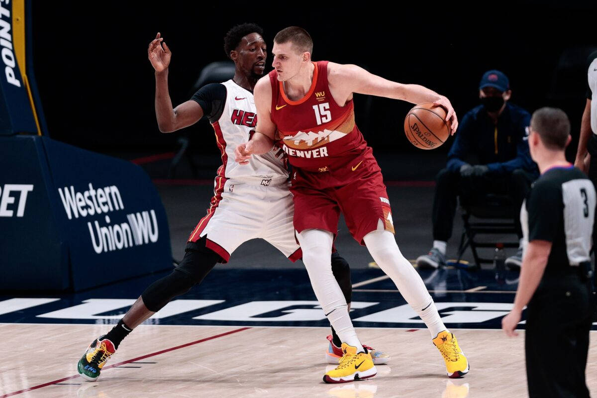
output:
[[[448,328],[499,329],[501,317],[512,308],[518,273],[509,271],[506,282],[498,283],[491,270],[419,272]],[[114,324],[144,288],[166,274],[155,273],[76,294],[0,296],[0,323]],[[383,273],[378,269],[352,271],[353,283],[379,276],[383,276]],[[464,292],[477,286],[487,288]],[[18,298],[38,300],[14,300]],[[42,298],[48,300],[39,300]],[[423,322],[405,303],[389,279],[356,288],[352,308],[351,317],[357,327],[424,328]],[[318,306],[305,270],[226,269],[225,266],[213,270],[201,285],[177,297],[146,323],[293,327],[329,325]],[[597,326],[593,329],[597,329]]]

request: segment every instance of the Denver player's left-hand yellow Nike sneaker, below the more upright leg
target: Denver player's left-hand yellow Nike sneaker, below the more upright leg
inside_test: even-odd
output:
[[[339,365],[333,371],[324,375],[327,383],[346,383],[353,380],[363,380],[377,375],[373,359],[368,352],[356,352],[356,347],[342,343],[344,355],[338,360]],[[367,351],[367,348],[365,348]]]

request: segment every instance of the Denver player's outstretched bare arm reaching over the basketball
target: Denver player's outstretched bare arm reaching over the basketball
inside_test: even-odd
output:
[[[328,69],[330,70],[328,81],[334,91],[343,92],[343,95],[341,95],[342,98],[349,98],[352,92],[358,92],[359,94],[377,95],[378,97],[408,101],[413,104],[431,102],[446,110],[446,121],[450,121],[451,123],[452,134],[458,128],[458,118],[450,100],[444,97],[444,95],[439,95],[437,92],[429,90],[429,88],[418,84],[393,82],[373,75],[373,73],[369,73],[367,70],[356,65],[342,65],[330,62]]]

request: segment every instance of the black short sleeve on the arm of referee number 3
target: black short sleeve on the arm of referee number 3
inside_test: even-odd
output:
[[[535,184],[527,203],[528,240],[553,242],[564,217],[561,187],[550,181]]]

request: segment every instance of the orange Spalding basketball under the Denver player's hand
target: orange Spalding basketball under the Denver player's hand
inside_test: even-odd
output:
[[[404,134],[420,149],[435,149],[450,137],[450,126],[445,121],[446,111],[430,102],[418,104],[404,119]]]

